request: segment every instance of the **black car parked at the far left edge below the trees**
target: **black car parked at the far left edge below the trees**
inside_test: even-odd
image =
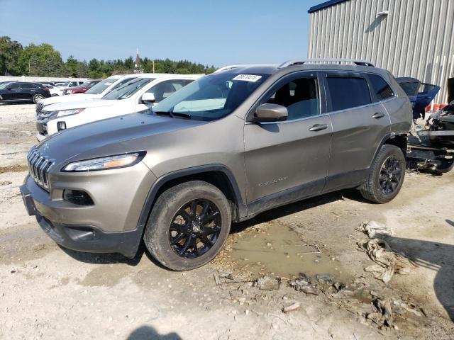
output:
[[[49,89],[41,84],[15,81],[0,85],[0,103],[24,101],[38,103],[38,101],[48,97],[50,97]]]

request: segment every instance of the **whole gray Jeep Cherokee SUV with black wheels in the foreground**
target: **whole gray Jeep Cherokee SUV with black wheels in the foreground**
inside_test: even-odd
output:
[[[264,210],[342,188],[386,203],[411,105],[389,72],[350,62],[226,67],[153,112],[50,137],[28,153],[28,213],[67,248],[133,257],[143,239],[183,271]]]

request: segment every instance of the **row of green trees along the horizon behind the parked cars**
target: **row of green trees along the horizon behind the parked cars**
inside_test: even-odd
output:
[[[177,62],[170,59],[155,60],[156,73],[179,74],[209,74],[216,70],[213,65],[209,67],[196,64],[188,60]],[[0,74],[13,76],[31,75],[38,77],[75,77],[75,78],[105,78],[112,74],[133,73],[135,58],[125,60],[97,60],[88,63],[75,59],[72,55],[66,63],[63,62],[60,52],[54,50],[49,44],[30,44],[25,48],[9,37],[0,37]],[[153,60],[145,57],[140,60],[139,69],[145,73],[153,72]]]

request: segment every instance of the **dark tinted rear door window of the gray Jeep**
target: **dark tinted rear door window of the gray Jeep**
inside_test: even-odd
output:
[[[367,81],[361,77],[327,77],[333,111],[372,103]]]

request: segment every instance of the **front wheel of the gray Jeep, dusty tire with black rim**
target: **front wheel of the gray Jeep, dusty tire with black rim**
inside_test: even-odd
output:
[[[157,198],[143,240],[163,266],[188,271],[214,259],[230,227],[231,207],[226,196],[209,183],[189,181]]]

